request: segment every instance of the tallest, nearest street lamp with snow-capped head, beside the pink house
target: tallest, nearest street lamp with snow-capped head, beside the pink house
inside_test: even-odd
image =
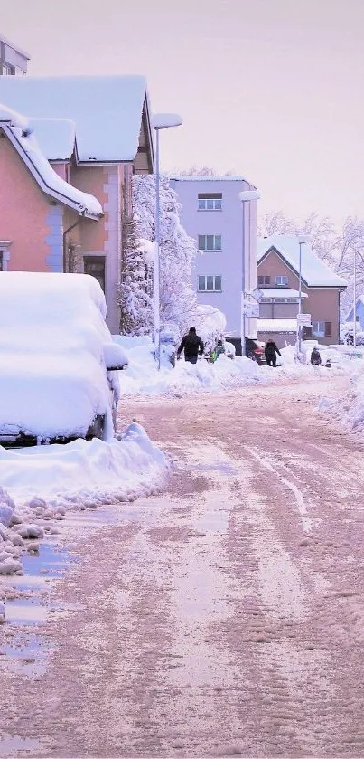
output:
[[[160,166],[159,166],[159,132],[161,129],[181,127],[182,118],[177,113],[156,113],[152,117],[155,129],[155,255],[154,255],[154,356],[161,368],[161,314],[160,314]]]

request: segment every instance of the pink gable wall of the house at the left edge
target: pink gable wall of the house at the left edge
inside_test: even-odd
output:
[[[50,203],[14,147],[0,137],[0,239],[11,241],[9,271],[49,271],[60,254],[61,206]],[[48,260],[48,261],[47,261]]]

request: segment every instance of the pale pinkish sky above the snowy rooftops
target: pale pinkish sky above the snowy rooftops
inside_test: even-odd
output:
[[[364,0],[0,0],[0,24],[30,74],[145,74],[184,121],[164,169],[233,169],[263,211],[364,217]]]

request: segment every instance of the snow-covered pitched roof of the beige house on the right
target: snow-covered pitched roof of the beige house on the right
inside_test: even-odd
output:
[[[272,234],[270,237],[258,239],[258,263],[270,248],[275,248],[288,266],[298,274],[300,258],[298,237],[290,234]],[[309,243],[302,245],[302,278],[308,287],[347,287],[347,282],[331,271],[326,263],[316,256]]]

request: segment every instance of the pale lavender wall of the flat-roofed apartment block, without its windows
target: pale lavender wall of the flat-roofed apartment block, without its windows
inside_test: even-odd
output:
[[[233,179],[173,179],[173,189],[182,205],[182,226],[198,242],[199,234],[221,234],[222,250],[198,252],[192,271],[193,287],[201,304],[219,308],[227,318],[227,334],[241,334],[241,289],[243,251],[243,210],[238,193],[251,185]],[[222,210],[199,211],[199,193],[221,193]],[[250,207],[249,207],[250,206]],[[254,289],[257,282],[257,203],[245,204],[245,264],[246,288]],[[199,275],[220,275],[221,292],[199,292]],[[246,319],[246,334],[256,335],[256,319]]]

